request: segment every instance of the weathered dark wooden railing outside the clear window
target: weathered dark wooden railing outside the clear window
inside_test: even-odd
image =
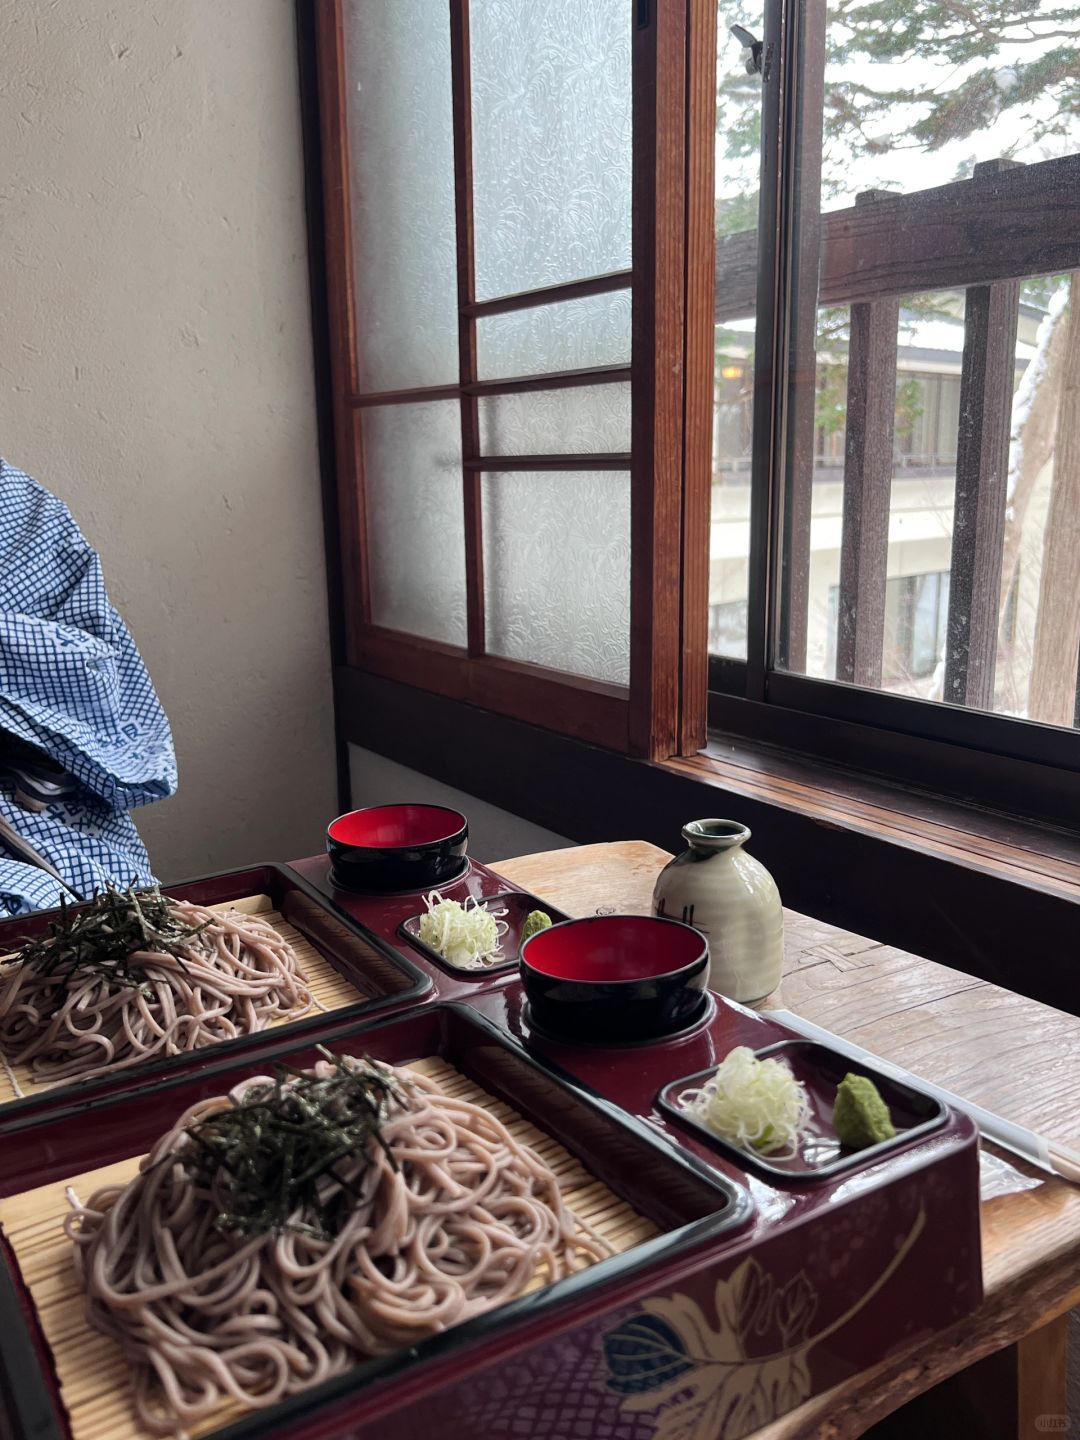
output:
[[[965,292],[960,420],[943,697],[991,708],[1015,374],[1018,282],[1080,269],[1080,156],[1015,166],[976,164],[971,180],[912,194],[871,192],[815,217],[821,236],[819,307],[851,307],[837,678],[880,687],[899,298]],[[805,266],[805,262],[804,262]],[[804,268],[805,274],[805,268]],[[717,323],[755,312],[757,235],[719,240]],[[798,307],[796,327],[812,312]],[[793,337],[796,409],[812,405],[814,337]],[[804,387],[802,396],[798,387]],[[788,504],[809,516],[812,448],[791,452]],[[805,665],[809,524],[792,527],[785,570],[802,616],[786,664]],[[801,552],[799,549],[801,547]],[[1079,691],[1080,697],[1080,691]],[[1080,704],[1080,698],[1079,698]]]

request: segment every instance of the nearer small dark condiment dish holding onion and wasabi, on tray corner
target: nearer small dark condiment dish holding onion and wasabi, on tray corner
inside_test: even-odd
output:
[[[855,1064],[829,1050],[828,1045],[819,1045],[812,1040],[780,1040],[773,1045],[755,1050],[755,1056],[759,1060],[786,1060],[795,1079],[806,1087],[811,1128],[806,1135],[801,1136],[796,1153],[792,1156],[779,1159],[726,1140],[683,1109],[681,1097],[685,1092],[704,1084],[716,1073],[716,1067],[698,1070],[696,1074],[665,1084],[657,1103],[680,1125],[694,1130],[708,1145],[736,1161],[742,1169],[755,1171],[769,1181],[805,1184],[806,1181],[834,1179],[847,1171],[912,1145],[936,1130],[948,1116],[946,1107],[933,1096],[900,1080],[893,1080],[868,1066]],[[848,1151],[840,1145],[832,1130],[832,1104],[837,1086],[845,1074],[865,1076],[874,1081],[896,1126],[896,1135],[891,1139],[868,1145],[861,1151]]]

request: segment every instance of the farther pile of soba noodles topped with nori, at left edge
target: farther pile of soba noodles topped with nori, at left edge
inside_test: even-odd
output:
[[[36,1081],[199,1050],[314,1004],[292,949],[258,916],[157,891],[109,891],[94,907],[0,968],[0,1054]]]

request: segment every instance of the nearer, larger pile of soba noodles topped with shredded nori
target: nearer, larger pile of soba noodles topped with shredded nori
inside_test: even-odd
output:
[[[294,1135],[301,1119],[314,1149],[294,1164],[274,1126]],[[350,1128],[366,1142],[341,1153]],[[307,1198],[275,1212],[274,1189]],[[226,1398],[271,1405],[609,1253],[579,1225],[554,1174],[487,1110],[333,1057],[192,1106],[132,1181],[66,1223],[88,1318],[120,1342],[157,1434]]]

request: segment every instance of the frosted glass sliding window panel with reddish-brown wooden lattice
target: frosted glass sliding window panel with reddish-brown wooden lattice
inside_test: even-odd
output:
[[[670,755],[687,17],[327,0],[317,26],[347,664]]]

